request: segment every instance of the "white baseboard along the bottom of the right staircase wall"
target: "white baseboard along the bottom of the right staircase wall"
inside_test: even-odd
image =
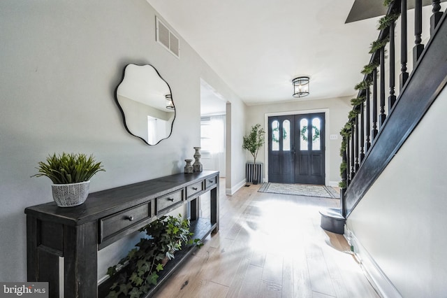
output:
[[[351,246],[351,250],[353,250],[363,273],[367,277],[369,283],[373,286],[374,290],[376,290],[381,297],[402,298],[402,295],[400,295],[397,288],[395,288],[372,256],[369,255],[365,247],[358,241],[356,235],[354,235],[346,225],[344,227],[344,238],[346,238],[346,241],[348,241]]]

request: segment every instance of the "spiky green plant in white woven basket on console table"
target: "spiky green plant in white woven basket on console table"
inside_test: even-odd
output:
[[[50,155],[46,162],[38,163],[38,173],[31,177],[47,176],[52,180],[53,199],[59,207],[78,206],[89,195],[90,178],[105,171],[93,155],[65,153]]]

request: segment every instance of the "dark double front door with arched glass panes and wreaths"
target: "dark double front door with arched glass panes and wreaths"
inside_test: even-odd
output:
[[[268,118],[270,182],[324,185],[324,119],[324,113]]]

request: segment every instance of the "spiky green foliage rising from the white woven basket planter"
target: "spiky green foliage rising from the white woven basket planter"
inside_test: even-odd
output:
[[[90,180],[98,171],[105,171],[93,155],[66,153],[49,155],[46,162],[38,162],[38,173],[31,177],[47,176],[54,184],[79,183]]]

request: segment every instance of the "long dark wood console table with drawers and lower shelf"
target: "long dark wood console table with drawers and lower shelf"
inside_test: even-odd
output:
[[[210,192],[210,218],[199,218],[198,197]],[[193,238],[219,231],[219,172],[179,173],[89,194],[71,208],[54,202],[31,206],[27,214],[28,281],[47,281],[50,297],[101,297],[98,250],[175,208],[191,207]],[[193,247],[168,262],[153,295]]]

